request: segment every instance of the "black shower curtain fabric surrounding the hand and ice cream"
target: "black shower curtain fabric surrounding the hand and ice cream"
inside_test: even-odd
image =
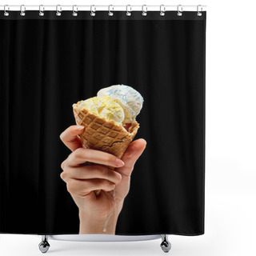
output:
[[[203,234],[205,50],[206,12],[0,11],[0,232],[78,234],[60,134],[74,103],[127,85],[147,143],[115,234]]]

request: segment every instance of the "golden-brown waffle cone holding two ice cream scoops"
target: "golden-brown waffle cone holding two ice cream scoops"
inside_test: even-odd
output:
[[[107,121],[100,118],[86,109],[79,108],[78,104],[73,105],[75,122],[79,126],[85,126],[85,130],[80,134],[82,146],[84,148],[101,150],[114,154],[117,158],[122,158],[130,142],[137,134],[139,124],[132,123],[129,131],[122,125],[118,126],[114,121]],[[87,162],[87,164],[94,164]],[[114,167],[107,166],[114,170]],[[101,190],[95,190],[95,194],[100,194]]]

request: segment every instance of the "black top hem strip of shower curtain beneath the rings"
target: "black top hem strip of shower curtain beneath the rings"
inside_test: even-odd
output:
[[[95,16],[90,16],[90,11],[81,11],[78,16],[73,16],[72,11],[63,10],[61,16],[56,15],[56,11],[45,11],[44,16],[39,16],[38,10],[28,10],[25,16],[21,16],[19,11],[9,11],[9,16],[4,16],[4,11],[0,11],[0,20],[26,20],[26,19],[42,19],[42,20],[198,20],[206,19],[206,11],[202,11],[202,16],[198,16],[196,11],[183,11],[182,16],[177,15],[177,11],[166,11],[164,16],[159,11],[147,12],[146,16],[142,16],[142,12],[134,11],[130,16],[126,16],[125,11],[114,11],[113,16],[109,16],[107,11],[97,11]]]

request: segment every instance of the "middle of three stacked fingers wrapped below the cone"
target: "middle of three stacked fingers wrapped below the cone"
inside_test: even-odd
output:
[[[70,179],[87,180],[87,179],[106,179],[109,182],[118,184],[122,175],[114,170],[108,169],[106,166],[67,166],[66,163],[62,165],[63,172],[61,178],[64,182],[69,182]]]

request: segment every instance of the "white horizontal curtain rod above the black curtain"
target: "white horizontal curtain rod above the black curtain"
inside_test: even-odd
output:
[[[56,5],[56,6],[30,6],[30,5],[20,5],[20,6],[9,6],[9,5],[1,5],[0,10],[8,10],[8,11],[26,11],[26,10],[41,10],[41,11],[46,11],[46,10],[70,10],[70,11],[206,11],[206,6],[164,6],[164,5],[159,5],[159,6],[132,6],[132,5],[127,5],[127,6],[115,6],[115,5],[110,5],[110,6],[65,6],[65,5]]]

